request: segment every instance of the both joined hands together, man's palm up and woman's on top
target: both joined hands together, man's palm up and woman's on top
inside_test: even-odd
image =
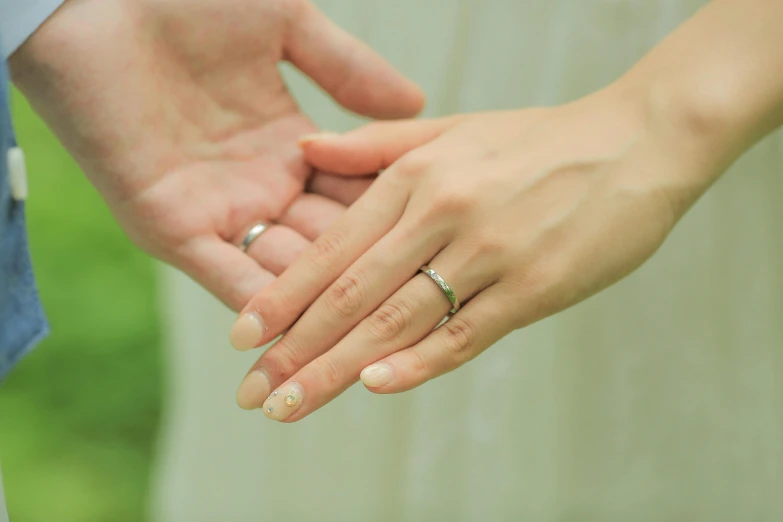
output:
[[[240,312],[234,347],[282,335],[238,392],[274,420],[360,379],[415,388],[617,281],[714,170],[632,78],[558,107],[318,134],[281,60],[359,114],[424,104],[305,0],[69,0],[11,59],[129,237]],[[439,327],[452,304],[422,265],[462,303]]]

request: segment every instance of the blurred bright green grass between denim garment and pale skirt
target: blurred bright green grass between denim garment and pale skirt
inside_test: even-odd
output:
[[[140,522],[160,414],[155,265],[13,94],[28,230],[52,334],[0,387],[13,522]]]

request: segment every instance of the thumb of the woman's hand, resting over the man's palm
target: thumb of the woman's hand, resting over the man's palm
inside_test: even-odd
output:
[[[440,136],[457,118],[374,122],[345,134],[304,136],[299,147],[305,161],[321,171],[349,176],[375,174]]]

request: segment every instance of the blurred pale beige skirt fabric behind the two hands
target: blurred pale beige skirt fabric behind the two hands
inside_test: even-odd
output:
[[[429,116],[589,93],[699,4],[320,2],[424,86]],[[319,125],[357,124],[290,78]],[[355,386],[294,425],[235,405],[258,354],[232,351],[234,315],[166,270],[153,520],[783,520],[781,171],[777,134],[620,284],[417,390]]]

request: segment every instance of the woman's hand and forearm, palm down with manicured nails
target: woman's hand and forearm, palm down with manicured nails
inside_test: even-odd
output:
[[[303,140],[319,169],[386,170],[240,315],[238,349],[283,334],[240,406],[293,422],[359,379],[410,390],[638,268],[783,123],[780,27],[783,2],[714,0],[572,103]],[[451,304],[424,264],[464,303],[437,329]]]

